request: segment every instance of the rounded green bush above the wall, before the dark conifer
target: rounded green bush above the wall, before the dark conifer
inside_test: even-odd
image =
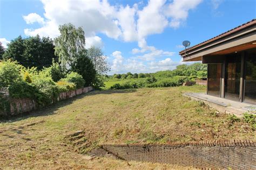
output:
[[[76,73],[76,72],[71,72],[70,74],[67,74],[64,79],[61,79],[60,81],[66,81],[70,83],[76,84],[76,88],[83,88],[85,81],[82,77],[82,75]]]

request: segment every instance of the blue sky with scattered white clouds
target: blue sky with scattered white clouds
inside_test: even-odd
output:
[[[255,0],[0,0],[0,41],[59,36],[72,23],[86,47],[101,47],[113,73],[149,73],[181,63],[183,40],[196,45],[256,18]]]

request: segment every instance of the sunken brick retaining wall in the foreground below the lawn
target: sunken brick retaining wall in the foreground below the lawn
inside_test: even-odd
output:
[[[256,140],[215,140],[163,145],[102,145],[124,160],[197,168],[256,169]]]

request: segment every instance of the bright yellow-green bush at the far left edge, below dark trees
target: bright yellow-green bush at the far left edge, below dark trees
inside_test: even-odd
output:
[[[12,83],[20,81],[22,79],[19,74],[21,67],[17,61],[0,61],[0,87],[8,87]]]

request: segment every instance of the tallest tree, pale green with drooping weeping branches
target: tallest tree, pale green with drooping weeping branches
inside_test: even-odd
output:
[[[64,68],[71,68],[75,65],[79,56],[86,55],[85,38],[82,27],[72,24],[59,26],[60,36],[55,38],[55,54]]]

